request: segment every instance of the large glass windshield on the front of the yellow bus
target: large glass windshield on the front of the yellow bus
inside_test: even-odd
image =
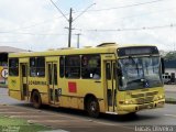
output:
[[[120,90],[152,88],[163,85],[158,56],[121,58],[118,67],[121,70],[119,75]]]

